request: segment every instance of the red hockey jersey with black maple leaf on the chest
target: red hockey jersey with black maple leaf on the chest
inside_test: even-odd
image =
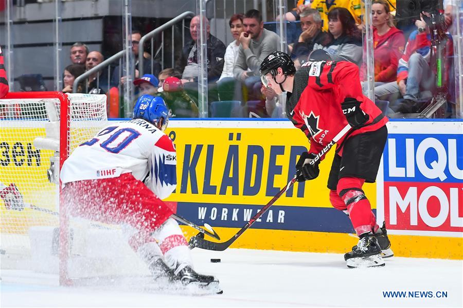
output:
[[[370,118],[363,127],[353,130],[348,138],[377,130],[386,124],[387,118],[381,110],[362,93],[357,65],[347,61],[306,62],[296,72],[287,114],[309,138],[309,153],[320,152],[347,125],[341,109],[346,97],[361,101],[360,108]],[[341,138],[337,145],[342,144],[344,139]],[[342,156],[342,149],[339,155]]]

